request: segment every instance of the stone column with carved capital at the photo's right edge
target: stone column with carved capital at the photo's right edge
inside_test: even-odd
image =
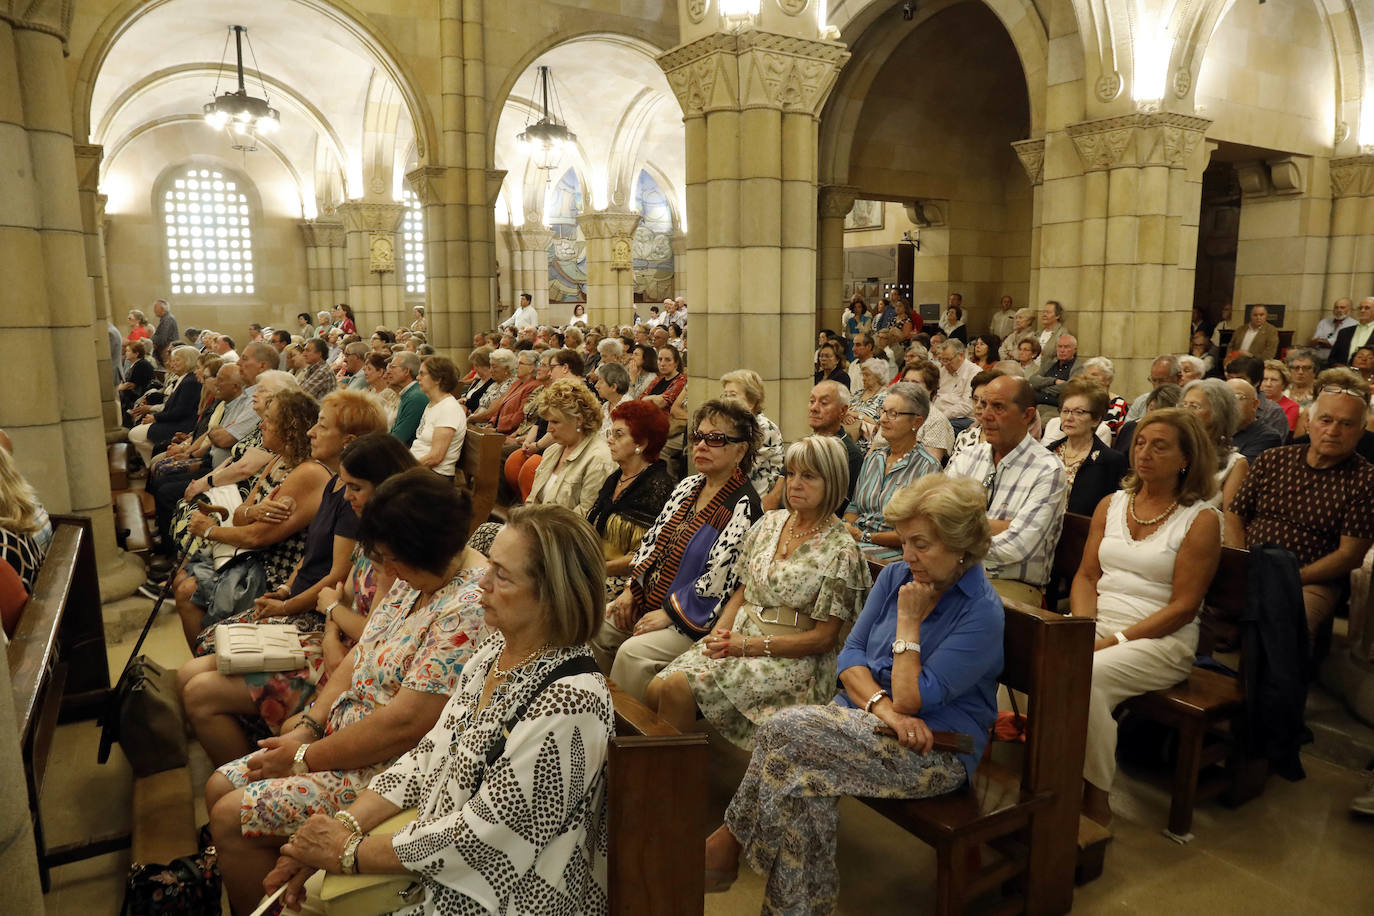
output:
[[[1342,295],[1359,302],[1374,290],[1374,155],[1331,159],[1330,176],[1325,306]]]

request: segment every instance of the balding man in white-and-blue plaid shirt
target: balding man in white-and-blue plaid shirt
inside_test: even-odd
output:
[[[971,477],[988,490],[992,549],[984,560],[1003,597],[1039,607],[1063,527],[1068,482],[1063,466],[1030,438],[1035,390],[1024,378],[1002,376],[974,404],[984,442],[954,456],[945,472]]]

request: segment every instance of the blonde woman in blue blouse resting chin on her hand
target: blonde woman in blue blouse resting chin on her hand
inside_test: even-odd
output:
[[[973,777],[1002,672],[985,505],[977,481],[944,474],[893,496],[885,515],[904,562],[874,584],[840,654],[834,702],[782,710],[756,732],[725,823],[706,839],[708,893],[725,890],[743,860],[767,878],[764,912],[834,912],[841,795],[927,798]],[[934,751],[936,731],[971,736],[973,753]]]

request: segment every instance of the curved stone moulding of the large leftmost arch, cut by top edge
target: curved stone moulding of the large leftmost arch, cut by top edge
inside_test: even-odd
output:
[[[176,0],[124,0],[110,11],[110,15],[96,27],[81,55],[81,66],[77,69],[76,87],[71,92],[71,122],[74,136],[88,137],[91,135],[91,99],[95,92],[95,81],[104,66],[110,51],[118,44],[125,30],[133,25],[139,16],[157,7]],[[381,29],[378,29],[367,14],[359,11],[345,0],[279,0],[295,3],[311,12],[323,15],[330,22],[346,30],[359,44],[361,44],[375,60],[376,66],[386,73],[401,91],[405,99],[405,108],[411,121],[416,125],[416,141],[420,146],[420,161],[427,163],[429,157],[438,152],[438,129],[434,124],[434,114],[425,102],[425,95],[419,91],[419,82],[409,67],[401,59],[396,45],[392,44]]]

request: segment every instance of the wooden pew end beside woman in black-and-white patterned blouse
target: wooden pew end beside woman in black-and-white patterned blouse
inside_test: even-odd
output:
[[[610,912],[687,916],[705,906],[705,735],[683,735],[606,678],[616,703],[607,765]]]

